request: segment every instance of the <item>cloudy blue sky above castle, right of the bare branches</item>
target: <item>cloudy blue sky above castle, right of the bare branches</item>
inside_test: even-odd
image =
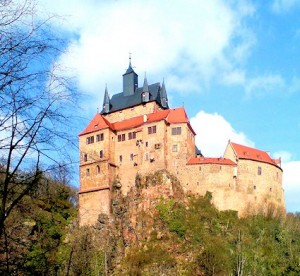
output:
[[[148,83],[165,80],[206,156],[227,141],[282,157],[288,211],[300,211],[300,1],[40,0],[69,38],[56,62],[76,76],[86,123],[105,84],[121,92],[128,53]],[[79,126],[83,129],[85,125]]]

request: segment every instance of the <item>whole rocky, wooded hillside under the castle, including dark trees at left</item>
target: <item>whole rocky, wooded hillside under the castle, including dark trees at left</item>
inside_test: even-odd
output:
[[[126,197],[115,179],[112,195],[111,217],[79,228],[74,191],[45,178],[7,222],[1,274],[300,274],[299,214],[238,218],[166,171],[137,175]]]

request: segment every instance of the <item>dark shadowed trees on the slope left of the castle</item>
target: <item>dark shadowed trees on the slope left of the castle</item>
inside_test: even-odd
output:
[[[70,252],[65,242],[77,216],[75,191],[43,176],[35,190],[24,196],[5,224],[1,239],[0,273],[57,275]],[[3,258],[9,254],[9,259]]]

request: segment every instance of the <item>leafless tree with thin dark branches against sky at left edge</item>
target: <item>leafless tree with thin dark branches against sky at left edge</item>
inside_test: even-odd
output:
[[[44,171],[68,162],[76,93],[55,60],[64,42],[34,0],[0,1],[0,238]]]

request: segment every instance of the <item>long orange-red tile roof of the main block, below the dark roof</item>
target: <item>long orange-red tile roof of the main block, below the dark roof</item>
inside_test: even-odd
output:
[[[144,123],[153,123],[161,120],[165,120],[167,123],[170,124],[187,123],[192,132],[196,134],[190,126],[184,108],[180,107],[175,109],[160,110],[154,113],[133,117],[115,123],[109,123],[101,114],[96,114],[96,116],[91,120],[88,126],[79,134],[79,136],[108,127],[112,130],[126,130],[142,126]]]

